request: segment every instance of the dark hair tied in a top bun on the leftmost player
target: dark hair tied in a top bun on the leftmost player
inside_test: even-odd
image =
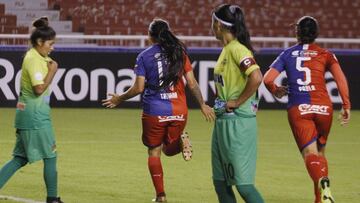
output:
[[[30,35],[30,42],[33,47],[37,46],[37,40],[42,41],[55,39],[56,32],[49,26],[49,19],[47,17],[40,17],[33,22],[34,29]]]

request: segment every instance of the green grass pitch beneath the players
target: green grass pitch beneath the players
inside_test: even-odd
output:
[[[14,111],[0,108],[0,165],[11,158]],[[147,151],[141,142],[140,115],[139,109],[52,110],[59,193],[66,203],[151,202],[154,189],[147,169]],[[193,160],[185,162],[180,155],[162,156],[168,202],[217,202],[210,165],[212,125],[203,120],[199,110],[191,110],[187,131],[194,146]],[[256,185],[265,201],[313,202],[312,182],[290,132],[286,111],[259,111],[258,128]],[[359,202],[359,111],[352,111],[351,123],[346,127],[340,127],[334,119],[327,155],[337,202]],[[18,171],[0,195],[44,200],[42,162]]]

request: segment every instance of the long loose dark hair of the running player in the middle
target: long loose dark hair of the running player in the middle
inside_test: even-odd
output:
[[[185,45],[170,31],[169,23],[156,18],[149,25],[149,35],[162,48],[162,59],[168,64],[168,71],[161,77],[156,89],[175,85],[184,70]]]

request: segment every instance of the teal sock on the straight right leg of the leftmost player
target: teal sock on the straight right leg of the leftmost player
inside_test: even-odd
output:
[[[57,197],[56,157],[44,159],[44,180],[48,197]]]

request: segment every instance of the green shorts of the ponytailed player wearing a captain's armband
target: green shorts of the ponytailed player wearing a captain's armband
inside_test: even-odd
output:
[[[228,185],[254,184],[256,145],[256,117],[216,118],[211,146],[213,179]]]

